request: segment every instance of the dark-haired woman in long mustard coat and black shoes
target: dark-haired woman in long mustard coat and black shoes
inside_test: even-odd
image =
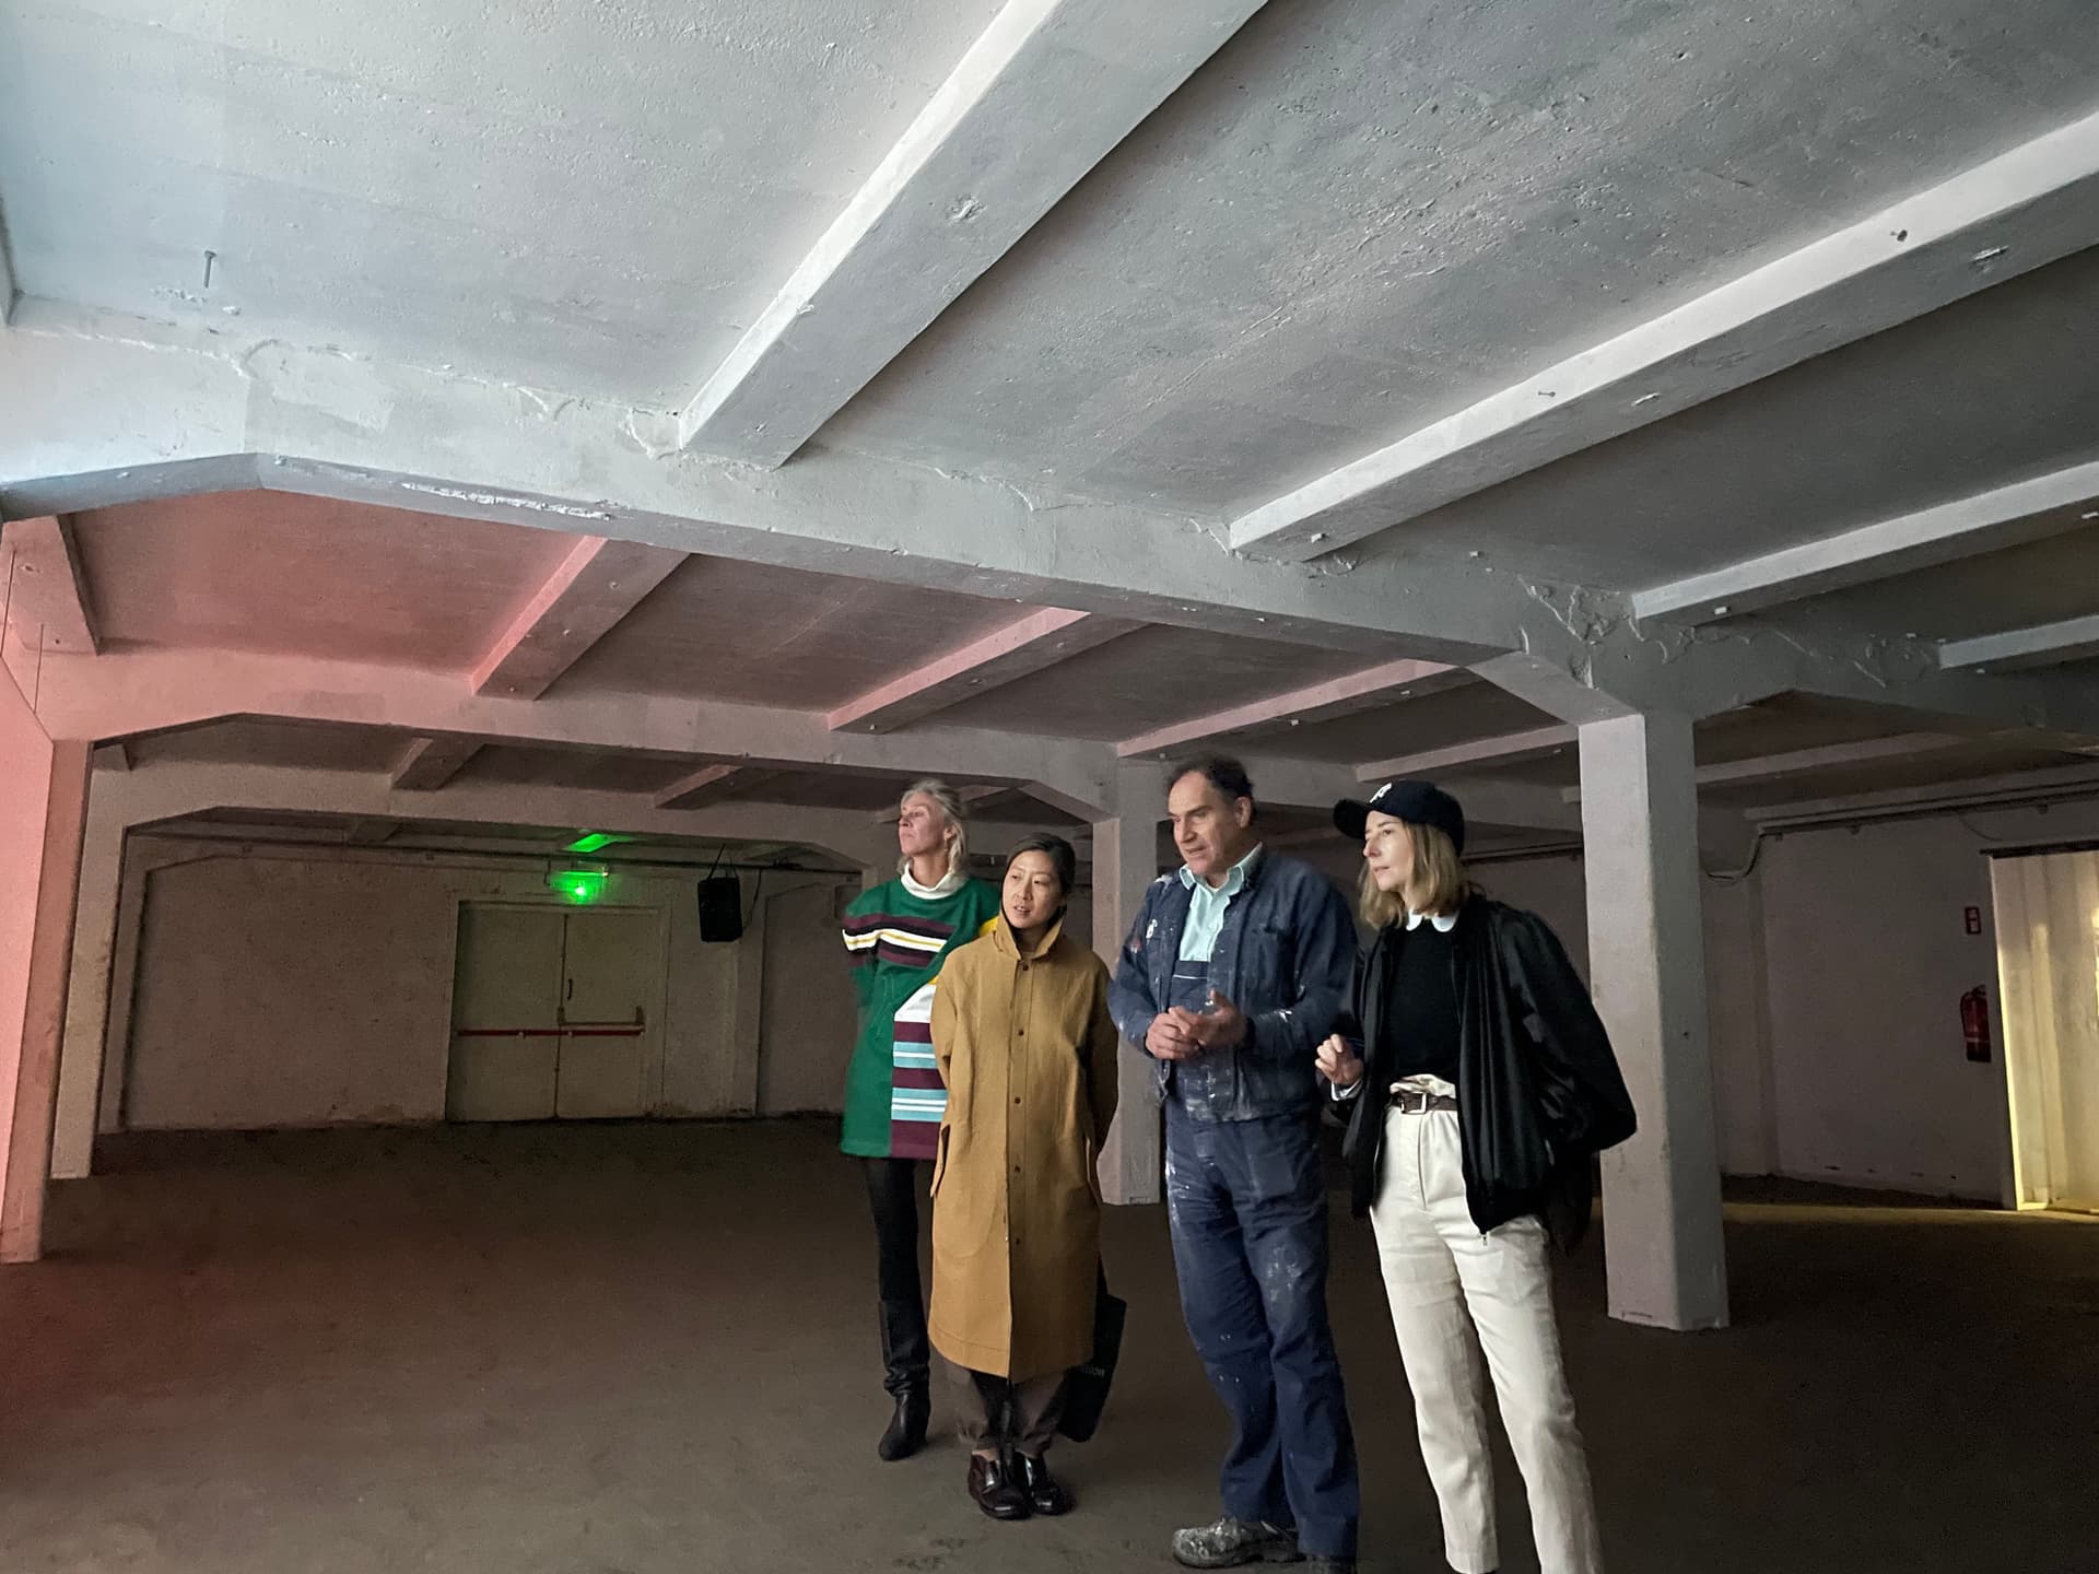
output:
[[[1062,934],[1070,844],[1024,839],[999,926],[949,955],[932,1007],[947,1119],[932,1171],[932,1345],[993,1519],[1066,1513],[1050,1477],[1064,1377],[1094,1349],[1100,1179],[1115,1116],[1108,970]]]

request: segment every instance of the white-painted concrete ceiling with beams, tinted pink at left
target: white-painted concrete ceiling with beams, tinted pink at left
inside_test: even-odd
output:
[[[0,2],[8,665],[663,835],[1196,745],[1560,835],[1599,705],[1721,808],[2057,770],[2095,84],[2089,0]]]

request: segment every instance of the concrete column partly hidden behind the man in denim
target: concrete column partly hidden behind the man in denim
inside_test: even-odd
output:
[[[1144,888],[1159,875],[1159,821],[1167,814],[1167,781],[1159,766],[1119,766],[1115,814],[1094,821],[1094,949],[1112,970],[1123,936],[1144,907]],[[1125,1043],[1121,1104],[1100,1154],[1100,1190],[1110,1203],[1157,1203],[1165,1146],[1152,1102],[1152,1062]]]

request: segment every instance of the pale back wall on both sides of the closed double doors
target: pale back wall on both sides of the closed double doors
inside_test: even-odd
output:
[[[443,1119],[458,905],[552,900],[535,865],[241,854],[151,837],[132,856],[187,858],[147,879],[128,1054],[118,1058],[122,1125],[132,1129]],[[615,873],[605,902],[670,915],[659,1112],[741,1114],[758,1102],[762,1060],[791,1079],[850,1045],[831,888],[825,879],[804,892],[810,877],[768,875],[770,900],[745,940],[705,944],[695,879]],[[798,999],[819,1024],[844,999],[842,1045],[787,1018],[770,1033],[758,1022],[764,909],[779,902],[781,942],[810,961]],[[804,1108],[838,1108],[835,1079],[823,1081],[825,1070],[808,1072]]]

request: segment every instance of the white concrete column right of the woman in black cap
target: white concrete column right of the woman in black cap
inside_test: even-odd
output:
[[[1727,1261],[1690,720],[1585,724],[1581,787],[1589,982],[1639,1110],[1639,1135],[1604,1154],[1610,1314],[1721,1328]]]

